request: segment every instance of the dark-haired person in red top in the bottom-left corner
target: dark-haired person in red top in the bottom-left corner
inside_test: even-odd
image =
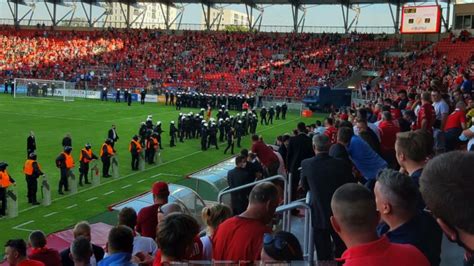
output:
[[[26,243],[23,239],[11,239],[5,244],[5,259],[10,266],[45,266],[26,256]]]

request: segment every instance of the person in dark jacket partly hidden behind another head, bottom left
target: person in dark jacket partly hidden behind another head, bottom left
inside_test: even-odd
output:
[[[91,242],[91,227],[88,222],[79,222],[74,226],[72,230],[74,239],[84,237]],[[91,243],[92,244],[92,243]],[[65,249],[61,251],[61,262],[63,266],[73,266],[74,262],[71,260],[71,249]],[[104,258],[104,249],[92,244],[92,257],[90,258],[90,264],[96,265],[99,261]]]

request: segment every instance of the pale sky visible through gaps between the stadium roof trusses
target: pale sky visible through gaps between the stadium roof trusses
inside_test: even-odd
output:
[[[86,6],[87,8],[87,6]],[[245,12],[245,6],[243,5],[227,5],[225,8],[233,9],[236,11]],[[285,5],[267,5],[264,6],[264,14],[262,20],[262,27],[267,25],[281,25],[289,26],[293,25],[292,13],[290,6]],[[305,20],[305,26],[339,26],[343,27],[343,18],[340,5],[325,5],[325,6],[306,6],[307,14]],[[360,5],[361,14],[359,16],[358,26],[386,26],[393,27],[392,17],[388,4],[377,4],[377,5]],[[443,13],[446,13],[446,5],[442,4]],[[395,8],[393,8],[395,11]],[[100,14],[100,8],[96,8],[95,15]],[[451,8],[452,10],[452,8]],[[27,11],[25,7],[20,7],[20,15]],[[61,14],[65,14],[67,9],[63,7],[58,8],[58,17]],[[254,11],[254,17],[256,18],[258,12]],[[76,17],[85,17],[82,7],[78,5],[76,10]],[[354,12],[349,11],[349,22],[352,21]],[[0,21],[3,19],[11,19],[11,13],[6,3],[6,0],[0,0]],[[44,3],[37,3],[35,15],[33,19],[49,19],[48,13],[44,6]],[[201,5],[189,4],[185,7],[184,16],[182,23],[199,24],[202,19],[202,8]],[[275,28],[278,29],[278,28]]]

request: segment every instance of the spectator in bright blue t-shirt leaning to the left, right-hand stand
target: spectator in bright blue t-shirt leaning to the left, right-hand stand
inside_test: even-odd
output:
[[[337,138],[347,147],[351,161],[366,181],[375,180],[377,173],[387,167],[387,163],[370,148],[367,142],[352,133],[352,128],[341,127]]]

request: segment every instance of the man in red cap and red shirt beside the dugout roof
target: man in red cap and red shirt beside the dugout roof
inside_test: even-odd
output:
[[[168,203],[168,196],[170,195],[168,184],[165,182],[154,183],[151,193],[153,194],[154,204],[145,207],[138,212],[137,226],[135,229],[141,236],[155,239],[156,226],[158,225],[158,208],[163,204]]]

